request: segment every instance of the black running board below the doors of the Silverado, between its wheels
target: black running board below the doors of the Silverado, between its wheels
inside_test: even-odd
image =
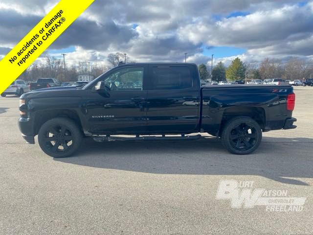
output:
[[[136,137],[118,137],[118,136],[94,136],[96,142],[106,141],[182,141],[182,140],[198,140],[202,136],[136,136]]]

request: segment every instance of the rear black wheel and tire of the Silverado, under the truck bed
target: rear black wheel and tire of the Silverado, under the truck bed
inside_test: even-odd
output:
[[[262,130],[252,118],[240,116],[232,118],[225,124],[221,140],[230,153],[249,154],[259,147]]]

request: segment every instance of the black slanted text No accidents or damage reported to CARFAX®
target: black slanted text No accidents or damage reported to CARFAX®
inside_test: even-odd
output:
[[[63,10],[58,11],[50,21],[43,25],[38,33],[33,35],[32,38],[27,39],[22,48],[19,48],[17,55],[9,59],[11,64],[15,63],[16,65],[21,66],[31,57],[38,47],[45,44],[45,42],[49,40],[49,37],[62,26],[63,22],[65,22],[65,18],[62,17],[62,14]]]

